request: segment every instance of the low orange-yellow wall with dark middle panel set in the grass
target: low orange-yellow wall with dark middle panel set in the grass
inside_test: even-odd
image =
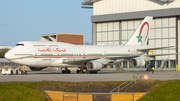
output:
[[[145,92],[125,93],[73,93],[62,91],[45,91],[53,101],[136,101]]]

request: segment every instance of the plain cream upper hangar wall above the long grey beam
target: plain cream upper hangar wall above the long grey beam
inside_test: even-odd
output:
[[[163,3],[159,0],[101,0],[93,3],[93,14],[104,15],[124,12],[137,12],[178,8],[180,0]]]

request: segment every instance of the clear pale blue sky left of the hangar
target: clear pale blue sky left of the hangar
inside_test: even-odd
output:
[[[92,9],[84,0],[0,0],[0,45],[40,41],[41,35],[78,33],[92,42]]]

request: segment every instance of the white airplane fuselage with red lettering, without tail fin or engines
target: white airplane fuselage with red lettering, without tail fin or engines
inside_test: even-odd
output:
[[[6,58],[14,63],[31,67],[85,66],[85,64],[64,64],[63,59],[144,54],[137,51],[143,47],[148,46],[73,45],[62,42],[24,41],[8,51]]]

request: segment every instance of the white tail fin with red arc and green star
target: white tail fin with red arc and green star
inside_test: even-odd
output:
[[[143,22],[140,24],[140,26],[136,29],[134,34],[131,36],[131,38],[128,40],[128,42],[125,45],[147,45],[147,39],[150,32],[150,26],[152,22],[151,16],[145,17]]]

